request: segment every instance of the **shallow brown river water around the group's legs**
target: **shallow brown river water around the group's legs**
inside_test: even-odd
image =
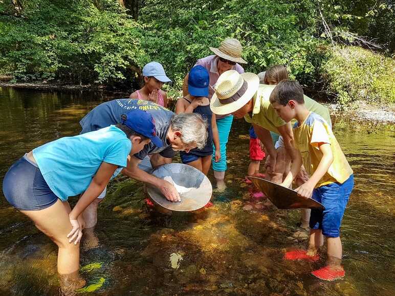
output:
[[[115,97],[125,95],[0,87],[0,179],[25,152],[78,134],[84,114]],[[262,200],[251,197],[254,189],[243,180],[249,126],[234,121],[228,188],[214,193],[213,207],[167,216],[146,206],[140,183],[122,176],[111,183],[99,207],[100,246],[81,253],[87,294],[393,295],[395,127],[343,117],[333,125],[356,184],[342,223],[344,280],[310,276],[324,256],[315,263],[282,259],[306,244],[296,237],[300,214],[262,209]],[[0,294],[57,294],[55,244],[1,191],[0,217]]]

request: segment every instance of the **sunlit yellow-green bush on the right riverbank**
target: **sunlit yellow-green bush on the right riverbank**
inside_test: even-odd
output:
[[[395,103],[395,61],[358,47],[337,47],[320,68],[328,94],[341,104],[355,100]]]

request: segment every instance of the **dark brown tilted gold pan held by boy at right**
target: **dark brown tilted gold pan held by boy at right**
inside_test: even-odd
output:
[[[260,189],[270,199],[278,209],[321,209],[324,206],[312,198],[302,198],[295,190],[275,184],[271,181],[248,177],[256,187]]]

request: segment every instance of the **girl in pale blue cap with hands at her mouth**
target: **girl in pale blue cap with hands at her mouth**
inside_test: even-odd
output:
[[[158,62],[149,62],[143,68],[144,86],[132,93],[130,99],[155,102],[167,108],[167,95],[161,88],[163,83],[171,82],[163,66]]]

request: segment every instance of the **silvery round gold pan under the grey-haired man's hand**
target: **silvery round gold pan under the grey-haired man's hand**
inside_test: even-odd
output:
[[[168,201],[160,190],[147,186],[148,195],[163,208],[172,211],[194,211],[204,207],[212,195],[210,180],[199,170],[184,164],[166,164],[152,171],[152,175],[173,181],[179,189],[181,202]],[[171,178],[171,179],[170,179]]]

